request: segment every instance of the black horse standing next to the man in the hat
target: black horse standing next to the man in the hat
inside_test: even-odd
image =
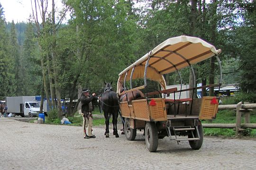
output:
[[[117,97],[117,93],[112,90],[111,83],[104,82],[106,87],[104,88],[104,93],[101,94],[100,105],[101,109],[104,112],[105,124],[106,124],[106,137],[109,137],[109,124],[110,117],[112,115],[112,123],[113,123],[113,135],[119,137],[117,130],[117,119],[118,119],[118,111],[119,111],[119,99]]]

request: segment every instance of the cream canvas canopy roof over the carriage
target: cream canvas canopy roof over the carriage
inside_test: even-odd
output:
[[[169,38],[124,69],[119,74],[119,84],[124,82],[127,72],[126,81],[130,79],[131,70],[134,67],[132,79],[143,78],[146,61],[150,58],[146,78],[159,82],[162,88],[165,89],[164,74],[209,59],[220,52],[221,50],[216,50],[213,45],[200,38],[185,35]],[[118,92],[119,87],[120,85],[118,85]]]

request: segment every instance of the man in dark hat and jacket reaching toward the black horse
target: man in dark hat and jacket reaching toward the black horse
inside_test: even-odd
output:
[[[81,103],[82,103],[82,128],[83,128],[83,138],[89,139],[89,138],[95,138],[96,136],[91,134],[92,131],[92,110],[93,106],[91,101],[97,100],[97,97],[95,96],[95,93],[92,93],[92,95],[89,95],[88,89],[82,90],[82,96],[81,96]],[[88,127],[88,135],[86,133],[86,129]]]

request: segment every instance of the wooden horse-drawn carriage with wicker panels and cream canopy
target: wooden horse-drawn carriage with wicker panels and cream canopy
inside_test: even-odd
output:
[[[125,118],[125,135],[128,140],[134,140],[137,129],[145,130],[146,147],[155,152],[158,139],[168,136],[179,142],[189,141],[192,149],[200,149],[203,142],[201,119],[214,119],[218,110],[218,98],[194,97],[199,88],[218,87],[221,85],[221,65],[218,58],[220,50],[200,38],[190,36],[174,37],[162,42],[135,63],[119,74],[117,93],[121,100],[120,110]],[[205,59],[216,57],[219,62],[219,84],[196,86],[193,64]],[[180,71],[190,67],[193,75],[193,87],[182,89]],[[164,75],[177,72],[180,77],[180,88],[167,89]],[[132,80],[143,79],[144,85],[132,87]],[[149,89],[147,81],[158,82],[161,89]],[[130,89],[126,89],[129,81]],[[136,92],[144,91],[144,99],[136,100]],[[190,91],[190,98],[182,98],[181,93]],[[128,94],[133,99],[128,99]],[[169,96],[169,97],[168,97]]]

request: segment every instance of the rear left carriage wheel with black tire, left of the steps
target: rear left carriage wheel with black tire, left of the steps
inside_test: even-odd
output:
[[[158,133],[155,122],[146,122],[145,141],[148,151],[155,152],[158,147]]]

